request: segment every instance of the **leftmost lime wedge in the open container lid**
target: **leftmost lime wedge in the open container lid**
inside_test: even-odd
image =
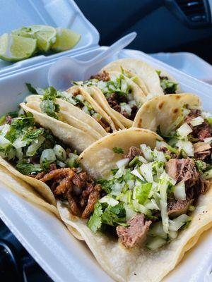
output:
[[[0,58],[5,61],[20,61],[33,55],[36,40],[5,33],[0,37]]]

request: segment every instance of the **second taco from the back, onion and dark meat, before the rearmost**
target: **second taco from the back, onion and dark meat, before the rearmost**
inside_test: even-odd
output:
[[[136,112],[146,102],[146,94],[141,88],[117,71],[93,75],[90,80],[83,82],[83,86],[87,86],[87,91],[89,88],[96,90],[93,92],[93,99],[110,115],[115,124],[118,121],[122,123],[122,127],[117,124],[121,129],[131,127]]]

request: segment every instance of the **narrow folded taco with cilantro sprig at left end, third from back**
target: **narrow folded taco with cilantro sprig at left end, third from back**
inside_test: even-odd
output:
[[[94,135],[96,140],[116,130],[110,116],[83,90],[83,87],[71,87],[64,92],[57,91],[54,87],[43,90],[28,85],[28,88],[33,94],[42,95],[27,97],[28,106]],[[51,109],[48,107],[49,103],[54,104],[53,113],[49,111]]]

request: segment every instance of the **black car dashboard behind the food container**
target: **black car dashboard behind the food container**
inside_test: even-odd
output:
[[[100,32],[100,45],[138,33],[130,48],[191,51],[212,63],[211,0],[76,0]]]

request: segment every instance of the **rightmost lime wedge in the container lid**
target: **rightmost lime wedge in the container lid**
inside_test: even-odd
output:
[[[78,35],[76,32],[67,30],[66,28],[58,27],[57,30],[57,39],[52,50],[60,52],[66,51],[73,48],[81,39],[81,35]]]

